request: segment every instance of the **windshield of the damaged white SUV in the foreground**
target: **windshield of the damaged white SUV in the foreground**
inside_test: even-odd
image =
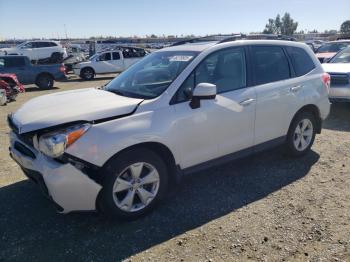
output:
[[[118,95],[152,99],[162,94],[197,56],[193,51],[155,52],[105,86]]]

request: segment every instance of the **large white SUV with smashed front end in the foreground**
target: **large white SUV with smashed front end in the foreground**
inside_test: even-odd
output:
[[[8,118],[10,154],[61,212],[134,218],[183,174],[278,144],[308,152],[330,110],[329,81],[305,44],[169,47],[102,88],[24,104]]]

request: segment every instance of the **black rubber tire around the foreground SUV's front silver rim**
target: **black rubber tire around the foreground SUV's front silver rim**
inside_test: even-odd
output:
[[[119,177],[119,175],[123,174],[123,170],[128,168],[130,165],[138,162],[148,163],[156,169],[159,175],[158,191],[155,197],[143,209],[136,211],[124,211],[120,207],[118,207],[115,202],[115,194],[118,193],[113,193],[114,183]],[[117,157],[112,158],[106,164],[103,173],[105,175],[105,178],[103,181],[102,191],[99,194],[97,200],[97,206],[103,213],[112,218],[120,220],[130,220],[139,218],[152,211],[167,192],[168,173],[166,165],[159,155],[148,149],[133,149],[130,151],[126,151]],[[127,189],[125,191],[128,193],[128,190],[130,191],[132,189]],[[135,196],[136,195],[137,192],[135,193]]]

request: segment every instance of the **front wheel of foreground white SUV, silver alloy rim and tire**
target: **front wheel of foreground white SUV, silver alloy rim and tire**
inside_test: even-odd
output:
[[[125,152],[105,172],[98,206],[114,218],[135,219],[150,212],[167,191],[165,163],[148,149]]]

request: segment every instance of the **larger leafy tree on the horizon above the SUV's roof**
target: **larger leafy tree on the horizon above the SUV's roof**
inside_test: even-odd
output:
[[[263,33],[293,35],[297,28],[298,22],[294,22],[289,13],[285,13],[282,19],[278,14],[275,19],[270,18],[268,20]]]

